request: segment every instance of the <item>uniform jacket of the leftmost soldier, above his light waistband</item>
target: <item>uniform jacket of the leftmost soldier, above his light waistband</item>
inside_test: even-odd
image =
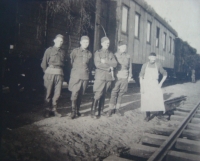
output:
[[[63,67],[64,66],[65,53],[64,50],[57,47],[49,47],[44,53],[42,59],[41,67],[43,71],[47,69],[48,66]]]

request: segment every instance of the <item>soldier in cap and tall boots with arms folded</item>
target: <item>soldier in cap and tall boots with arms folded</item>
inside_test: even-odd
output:
[[[91,107],[91,117],[94,117],[96,109],[98,108],[98,116],[101,116],[101,109],[103,109],[105,94],[111,86],[113,81],[112,72],[113,68],[117,66],[117,61],[108,50],[110,40],[107,37],[101,39],[102,49],[98,50],[94,54],[94,64],[96,66],[95,82],[93,86],[94,100]],[[99,102],[100,101],[100,102]]]

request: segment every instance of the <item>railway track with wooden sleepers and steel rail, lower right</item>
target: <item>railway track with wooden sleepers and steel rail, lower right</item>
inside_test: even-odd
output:
[[[145,131],[141,144],[135,144],[104,161],[200,161],[200,102],[191,109],[176,108],[170,120],[177,128],[154,126]]]

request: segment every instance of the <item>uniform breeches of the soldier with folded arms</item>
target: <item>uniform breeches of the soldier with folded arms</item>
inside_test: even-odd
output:
[[[101,97],[105,99],[106,92],[111,87],[111,81],[106,80],[95,80],[93,91],[94,91],[94,99],[99,100]]]

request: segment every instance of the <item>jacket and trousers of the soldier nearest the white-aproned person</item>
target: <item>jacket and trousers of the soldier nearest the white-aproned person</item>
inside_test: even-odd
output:
[[[130,55],[128,55],[127,53],[117,52],[115,54],[115,57],[118,64],[115,69],[116,80],[114,83],[114,88],[111,92],[110,104],[120,105],[122,96],[128,88],[128,77],[132,77],[131,62]]]

